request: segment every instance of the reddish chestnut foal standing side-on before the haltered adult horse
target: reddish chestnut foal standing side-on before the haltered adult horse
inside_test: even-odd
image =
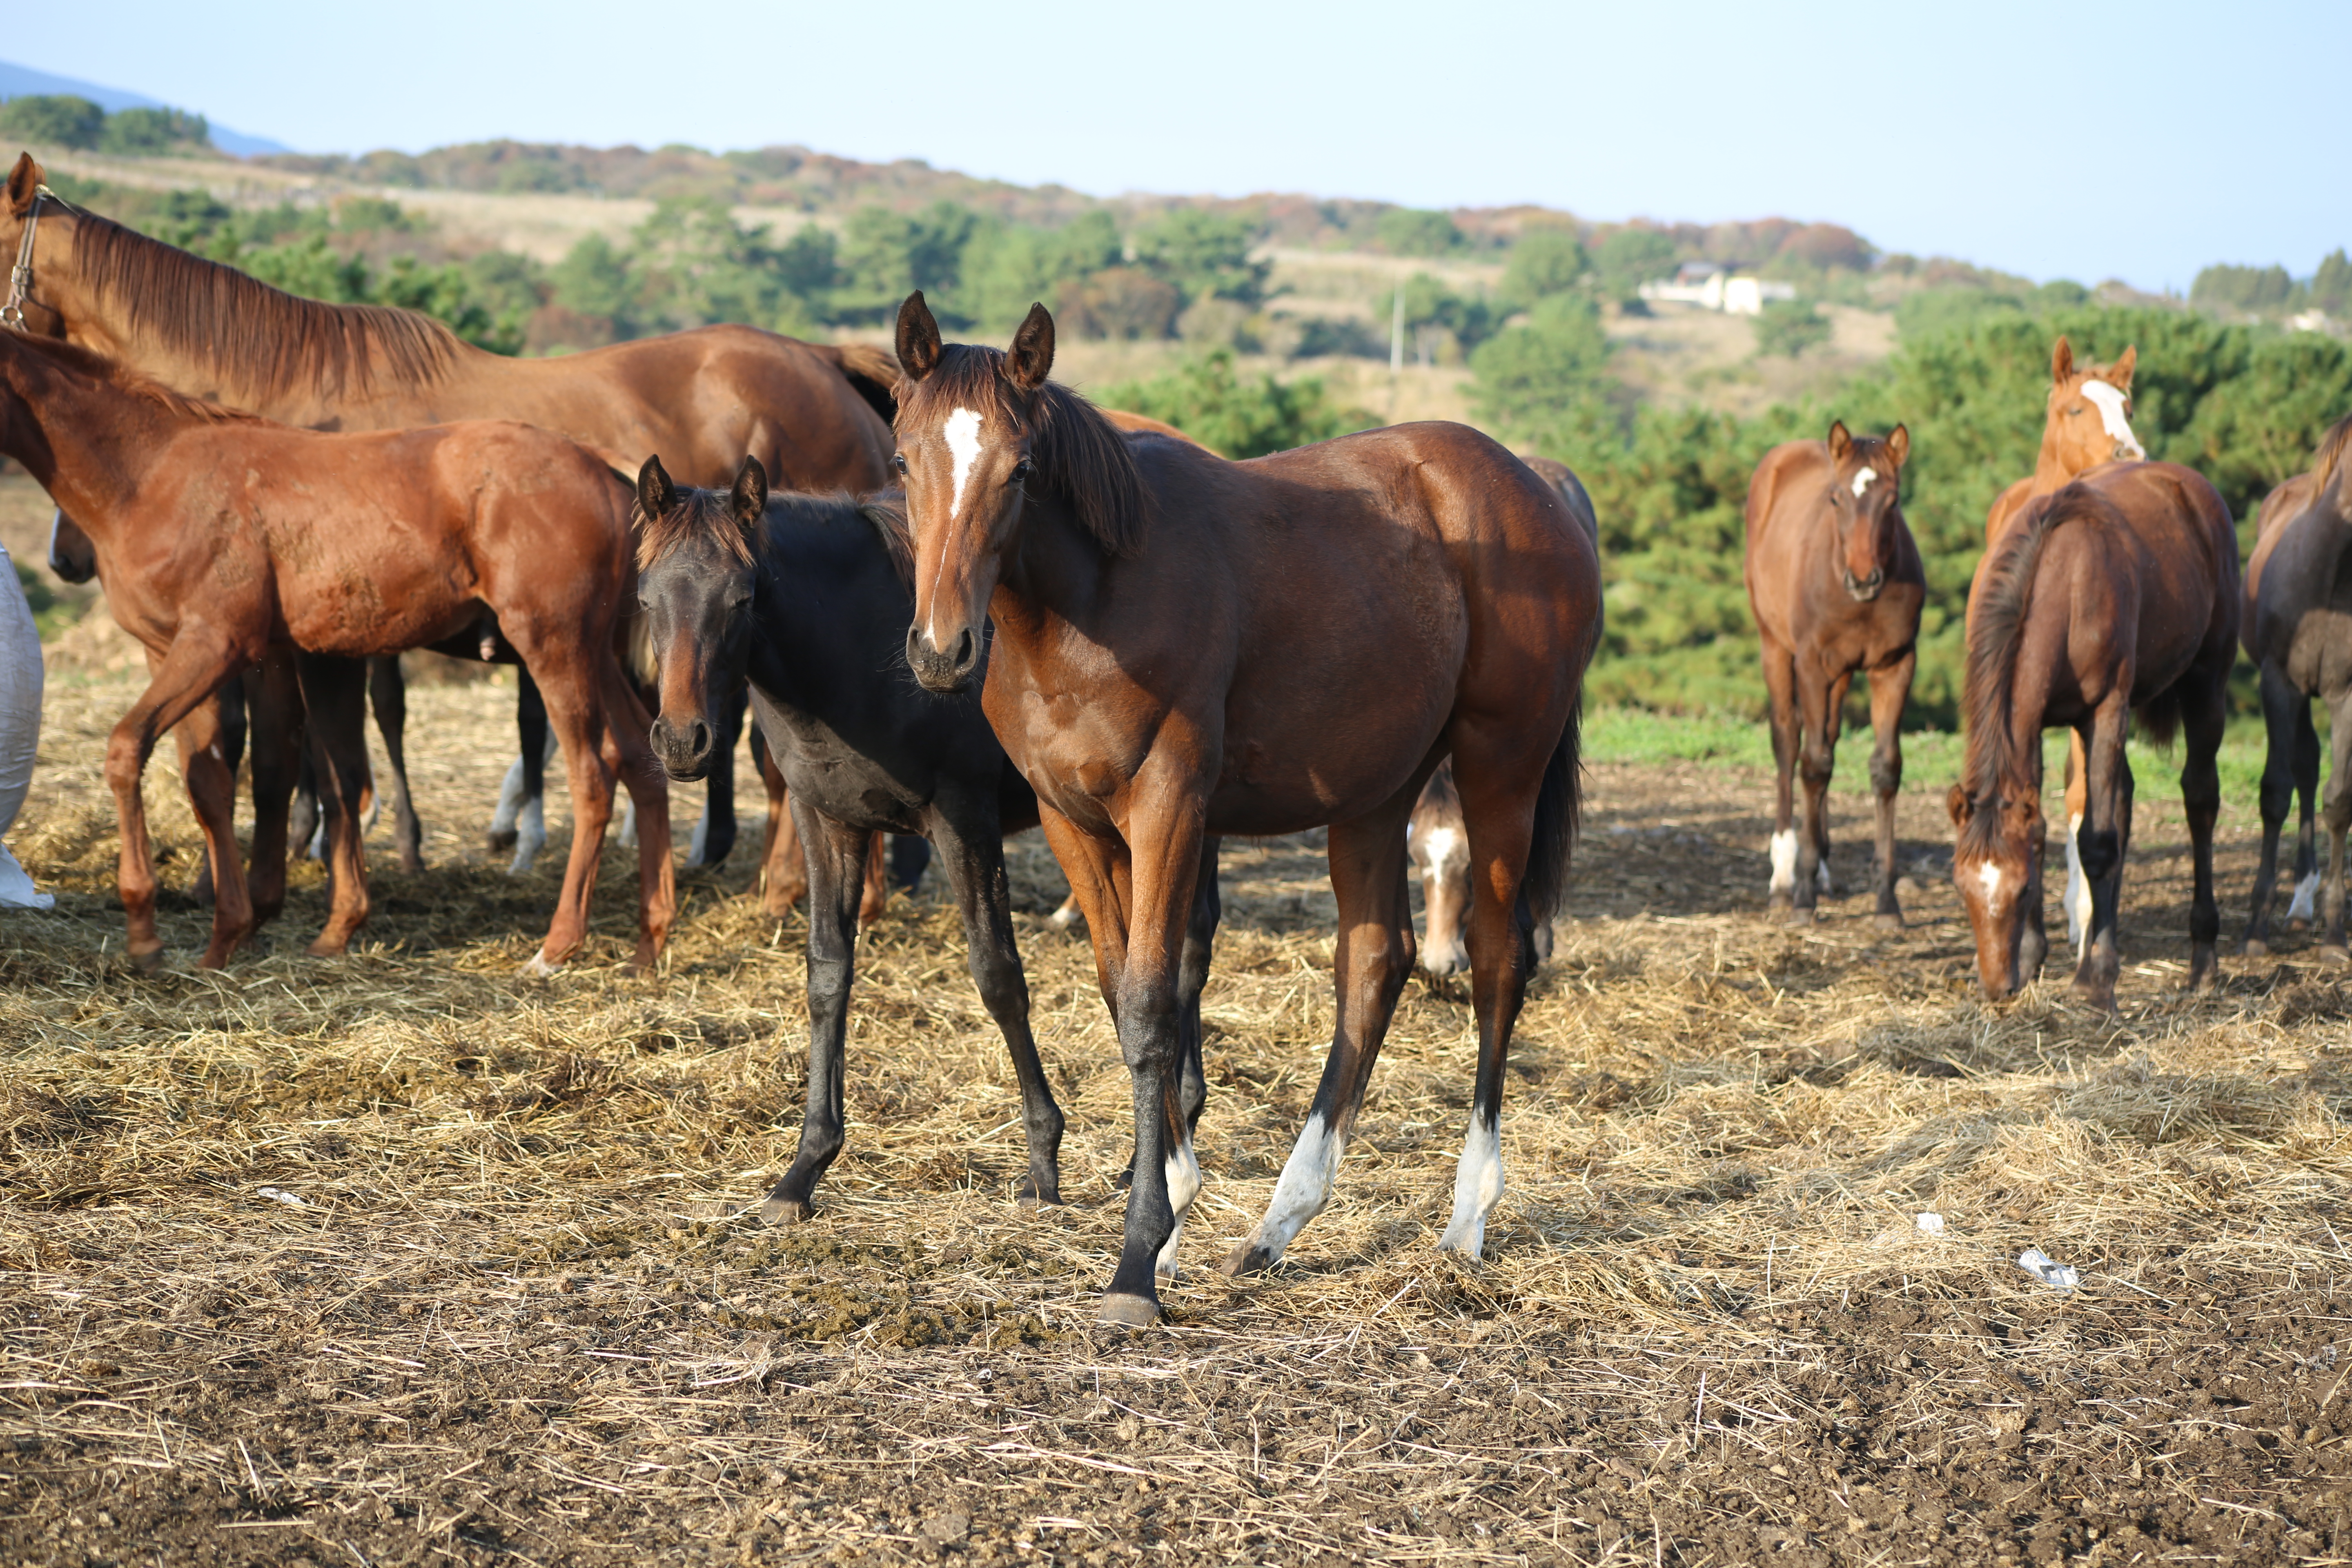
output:
[[[214,879],[219,966],[252,929],[247,879],[230,875],[235,776],[219,750],[221,682],[294,651],[320,731],[332,813],[334,907],[313,952],[341,952],[367,917],[360,780],[367,748],[355,682],[369,656],[470,637],[499,616],[548,698],[572,764],[572,865],[532,959],[564,961],[588,931],[614,771],[640,806],[635,964],[661,952],[670,891],[668,788],[614,658],[630,583],[628,487],[588,449],[506,421],[325,435],[181,397],[56,339],[0,331],[0,451],[82,520],[106,574],[106,607],[148,649],[153,679],[115,724],[106,783],[122,818],[129,954],[153,971],[155,867],[139,780],[158,736],[181,724],[188,797]],[[282,663],[282,661],[275,661]],[[261,773],[275,769],[256,745]],[[278,792],[268,780],[285,827]],[[282,839],[261,844],[254,863]]]

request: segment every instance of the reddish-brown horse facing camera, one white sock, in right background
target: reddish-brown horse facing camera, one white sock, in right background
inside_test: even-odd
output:
[[[1926,574],[1903,524],[1910,430],[1853,437],[1844,421],[1820,442],[1785,442],[1748,482],[1748,607],[1764,642],[1771,757],[1778,776],[1771,835],[1773,905],[1813,919],[1830,891],[1830,769],[1856,670],[1870,672],[1870,790],[1879,797],[1879,926],[1896,903],[1896,790],[1903,788],[1903,703],[1919,661]],[[1804,830],[1792,776],[1804,778]]]

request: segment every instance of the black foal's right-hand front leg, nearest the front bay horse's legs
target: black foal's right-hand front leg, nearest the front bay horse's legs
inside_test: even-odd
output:
[[[1021,1131],[1030,1168],[1016,1197],[1028,1204],[1058,1204],[1063,1119],[1037,1060],[1037,1037],[1030,1032],[1028,976],[1014,945],[1011,886],[1004,877],[1004,830],[995,780],[988,785],[988,790],[943,788],[929,827],[948,867],[955,907],[964,917],[971,983],[981,992],[981,1006],[1004,1034],[1004,1048],[1014,1058],[1014,1081],[1021,1086]]]

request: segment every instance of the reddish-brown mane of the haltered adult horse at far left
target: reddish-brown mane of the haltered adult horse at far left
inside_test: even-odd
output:
[[[205,360],[254,397],[348,397],[379,378],[430,383],[461,348],[428,315],[299,299],[111,219],[82,216],[73,244],[82,275],[132,329]]]

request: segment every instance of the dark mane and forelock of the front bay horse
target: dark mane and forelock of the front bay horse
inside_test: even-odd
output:
[[[898,409],[962,407],[1028,430],[1037,484],[1077,512],[1110,555],[1143,548],[1148,494],[1127,437],[1091,402],[1047,381],[1023,397],[1004,378],[1004,350],[950,343],[922,381],[898,383]]]

